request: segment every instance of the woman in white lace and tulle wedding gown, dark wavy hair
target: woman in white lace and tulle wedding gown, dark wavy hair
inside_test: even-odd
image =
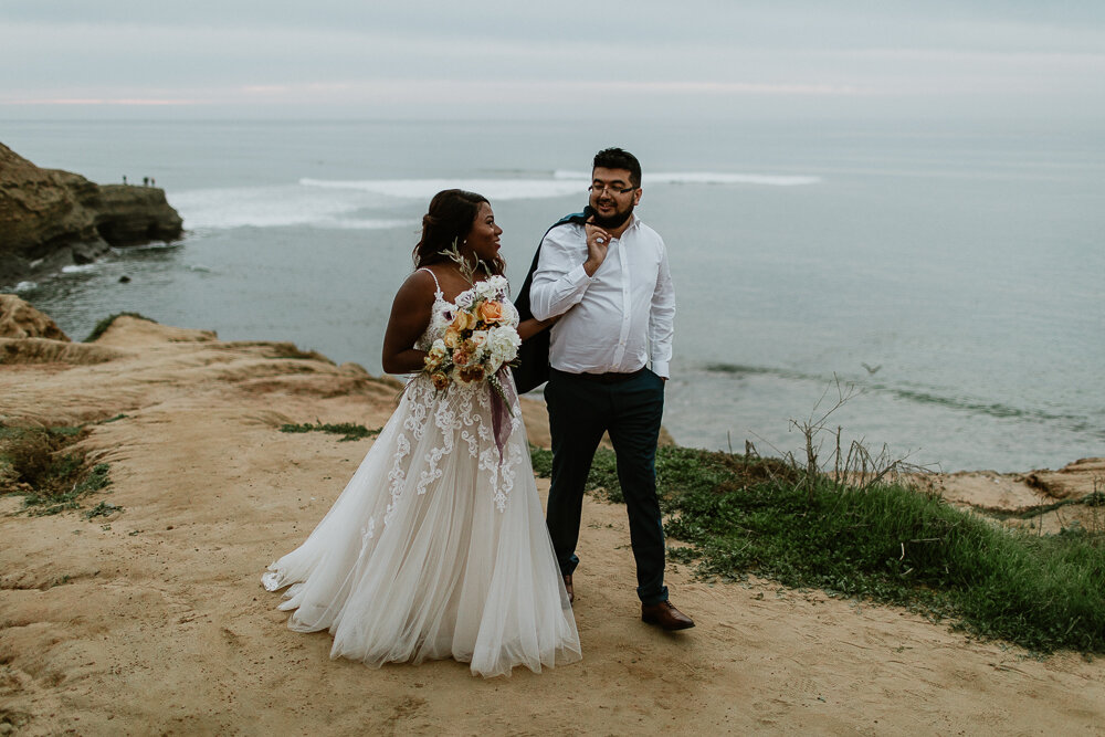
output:
[[[383,370],[415,376],[330,510],[262,577],[270,591],[291,586],[280,606],[295,610],[288,628],[330,631],[330,657],[452,657],[484,677],[580,659],[509,371],[495,397],[486,380],[435,389],[423,370],[457,303],[502,278],[502,232],[478,194],[431,200],[383,339]],[[548,326],[518,325],[504,303],[523,339]]]

